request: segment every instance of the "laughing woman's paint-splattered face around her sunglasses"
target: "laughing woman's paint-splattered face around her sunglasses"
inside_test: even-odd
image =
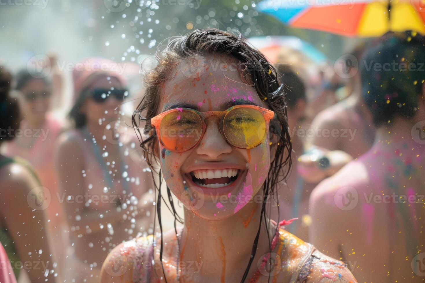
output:
[[[266,108],[255,88],[241,80],[239,72],[229,67],[228,60],[220,57],[201,61],[186,59],[171,71],[170,79],[164,83],[157,114],[170,107],[206,112],[252,103]],[[252,197],[258,193],[269,171],[269,137],[266,135],[255,148],[239,149],[224,140],[218,127],[219,118],[211,116],[205,123],[204,136],[194,148],[174,152],[156,140],[157,154],[168,187],[187,209],[203,219],[226,219],[249,202],[262,203],[258,196]],[[200,181],[203,185],[227,183],[229,170],[231,175],[236,173],[230,185],[221,188],[198,185]],[[206,179],[194,178],[204,173]]]

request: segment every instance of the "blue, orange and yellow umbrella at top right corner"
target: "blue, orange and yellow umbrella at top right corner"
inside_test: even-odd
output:
[[[406,30],[425,34],[425,0],[264,0],[258,10],[295,28],[344,36]]]

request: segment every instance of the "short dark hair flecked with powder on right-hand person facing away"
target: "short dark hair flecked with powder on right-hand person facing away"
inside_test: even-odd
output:
[[[425,37],[412,31],[388,32],[365,51],[360,61],[362,96],[375,126],[415,115],[424,64]]]

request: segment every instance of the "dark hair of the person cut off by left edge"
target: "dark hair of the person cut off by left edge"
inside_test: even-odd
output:
[[[0,144],[11,140],[15,129],[19,128],[19,107],[16,98],[11,98],[12,76],[0,66]],[[6,131],[6,132],[5,132]]]

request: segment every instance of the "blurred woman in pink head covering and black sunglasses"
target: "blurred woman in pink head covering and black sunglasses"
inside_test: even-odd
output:
[[[97,283],[111,249],[152,230],[153,179],[119,109],[128,95],[121,66],[102,58],[76,66],[74,128],[59,137],[55,149],[73,244],[65,278]]]

